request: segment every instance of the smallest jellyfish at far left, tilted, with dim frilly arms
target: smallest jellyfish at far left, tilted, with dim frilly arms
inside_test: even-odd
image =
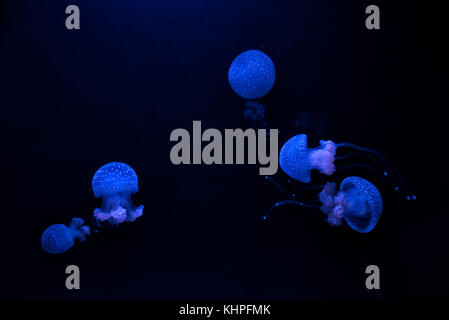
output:
[[[83,224],[83,219],[73,218],[68,227],[63,224],[51,225],[42,233],[42,249],[49,253],[60,254],[69,250],[76,239],[86,240],[86,236],[90,234],[90,228]]]

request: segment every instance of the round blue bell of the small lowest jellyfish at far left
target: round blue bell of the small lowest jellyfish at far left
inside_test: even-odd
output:
[[[49,253],[63,253],[74,244],[73,235],[63,224],[54,224],[48,227],[41,237],[42,248]]]

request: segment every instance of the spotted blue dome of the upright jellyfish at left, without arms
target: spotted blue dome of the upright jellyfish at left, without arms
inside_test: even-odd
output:
[[[95,172],[92,190],[97,198],[119,192],[135,193],[139,191],[137,175],[127,164],[111,162]]]

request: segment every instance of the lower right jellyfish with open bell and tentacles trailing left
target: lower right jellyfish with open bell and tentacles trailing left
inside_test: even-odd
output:
[[[270,181],[280,187],[274,180]],[[349,227],[360,233],[367,233],[374,229],[382,214],[382,197],[379,190],[368,180],[360,177],[347,177],[337,190],[336,183],[321,186],[322,190],[316,200],[298,200],[297,195],[291,199],[274,204],[264,219],[267,219],[274,208],[282,205],[296,205],[315,210],[319,216],[333,227],[341,226],[345,220]],[[284,189],[281,188],[283,192]],[[319,202],[319,204],[314,204]]]

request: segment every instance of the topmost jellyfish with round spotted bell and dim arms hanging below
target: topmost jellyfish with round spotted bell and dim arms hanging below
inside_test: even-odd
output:
[[[254,100],[265,96],[275,80],[273,61],[262,51],[248,50],[234,59],[229,68],[228,81],[237,95],[248,100],[243,113],[245,119],[266,125],[265,107]]]

